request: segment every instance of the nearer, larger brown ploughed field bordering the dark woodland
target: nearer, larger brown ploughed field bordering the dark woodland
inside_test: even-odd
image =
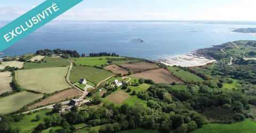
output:
[[[170,84],[175,82],[177,84],[184,84],[180,79],[172,76],[167,70],[160,68],[154,70],[148,70],[146,72],[137,73],[130,75],[132,78],[144,78],[144,79],[151,79],[155,83],[165,83]]]

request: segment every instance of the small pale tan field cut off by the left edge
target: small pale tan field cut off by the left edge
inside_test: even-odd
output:
[[[12,87],[10,85],[10,83],[12,82],[11,74],[11,72],[0,73],[0,94],[12,91]]]

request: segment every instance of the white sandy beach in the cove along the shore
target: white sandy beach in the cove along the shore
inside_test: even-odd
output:
[[[198,57],[193,54],[178,55],[167,57],[166,59],[158,59],[161,63],[170,66],[182,66],[182,67],[194,67],[194,66],[204,66],[209,63],[213,63],[216,60],[206,59],[205,57]]]

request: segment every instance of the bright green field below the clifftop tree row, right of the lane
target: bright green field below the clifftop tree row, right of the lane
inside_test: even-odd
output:
[[[123,58],[123,57],[80,57],[80,58],[70,58],[71,61],[75,60],[77,65],[86,65],[86,66],[101,66],[108,65],[108,58]]]

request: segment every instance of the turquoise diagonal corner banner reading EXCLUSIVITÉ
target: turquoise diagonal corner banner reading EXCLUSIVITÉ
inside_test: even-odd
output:
[[[0,29],[0,51],[28,36],[83,0],[47,0]]]

